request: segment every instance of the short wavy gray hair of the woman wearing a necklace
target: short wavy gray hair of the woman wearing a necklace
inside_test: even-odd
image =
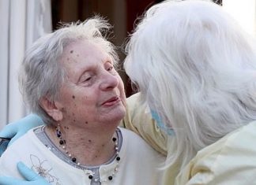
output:
[[[58,60],[70,43],[88,39],[106,50],[113,61],[119,60],[115,46],[106,38],[110,28],[107,20],[93,17],[81,23],[63,24],[62,28],[33,43],[25,54],[19,76],[21,93],[32,113],[47,124],[53,121],[40,106],[40,98],[47,97],[51,102],[58,100],[58,91],[66,79],[65,69]]]

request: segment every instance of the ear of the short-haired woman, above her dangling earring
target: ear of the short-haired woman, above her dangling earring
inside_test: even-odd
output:
[[[55,121],[60,121],[63,118],[62,104],[59,102],[51,102],[48,98],[40,99],[40,105],[44,111]]]

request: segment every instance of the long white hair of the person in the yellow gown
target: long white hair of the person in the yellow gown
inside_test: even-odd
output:
[[[169,165],[256,119],[255,43],[211,1],[165,1],[145,13],[124,66],[175,131]]]

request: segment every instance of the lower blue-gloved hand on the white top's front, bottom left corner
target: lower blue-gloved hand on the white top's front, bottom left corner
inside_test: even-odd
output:
[[[32,169],[28,168],[24,163],[18,162],[17,169],[21,173],[24,179],[15,179],[9,176],[0,176],[1,185],[50,185],[46,179],[39,176]]]

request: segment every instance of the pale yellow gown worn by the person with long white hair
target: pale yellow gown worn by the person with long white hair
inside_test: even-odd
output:
[[[127,99],[127,113],[121,125],[135,131],[155,150],[166,155],[167,135],[156,126],[149,109],[146,105],[141,105],[139,99],[139,93]],[[200,150],[180,173],[178,172],[179,165],[165,169],[163,184],[256,184],[255,133],[256,122],[233,131]]]

